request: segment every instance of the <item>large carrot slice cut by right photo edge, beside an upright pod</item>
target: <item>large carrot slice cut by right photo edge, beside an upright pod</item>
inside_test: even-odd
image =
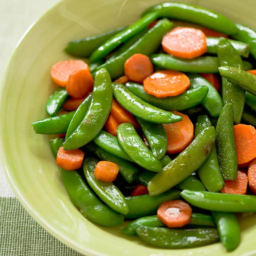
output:
[[[256,130],[252,125],[237,124],[234,126],[237,163],[246,167],[256,157]]]

